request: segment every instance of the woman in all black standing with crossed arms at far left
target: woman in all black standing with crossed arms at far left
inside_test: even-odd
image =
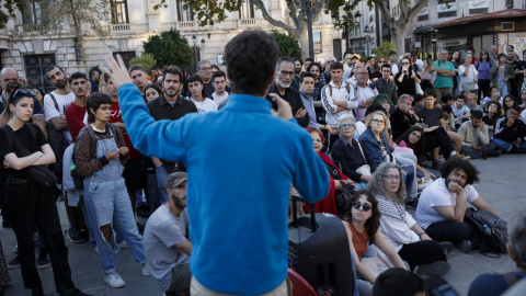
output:
[[[44,296],[42,281],[35,266],[35,242],[33,226],[36,225],[52,259],[57,293],[85,295],[75,287],[68,263],[55,189],[43,189],[24,170],[32,166],[46,166],[55,161],[55,153],[42,130],[27,123],[33,113],[34,93],[23,89],[11,89],[5,101],[10,117],[8,125],[0,129],[0,157],[5,174],[7,209],[11,213],[11,225],[16,236],[20,266],[24,287],[32,295]],[[8,141],[11,134],[12,145]],[[16,141],[19,145],[16,145]]]

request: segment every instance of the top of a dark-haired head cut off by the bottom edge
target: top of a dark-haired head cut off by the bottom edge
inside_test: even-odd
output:
[[[424,292],[422,277],[400,267],[382,272],[373,286],[373,296],[413,296],[419,292]]]

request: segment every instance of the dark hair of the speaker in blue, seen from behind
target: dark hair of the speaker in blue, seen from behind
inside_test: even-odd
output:
[[[274,79],[277,53],[276,41],[263,31],[244,31],[233,37],[225,47],[232,91],[265,95]]]

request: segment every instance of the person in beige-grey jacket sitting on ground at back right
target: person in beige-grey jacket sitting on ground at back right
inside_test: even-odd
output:
[[[483,151],[489,157],[501,156],[501,151],[490,143],[490,132],[488,125],[482,122],[482,111],[471,112],[471,119],[462,123],[457,133],[462,137],[462,148],[460,148],[462,155],[472,159],[481,158]]]

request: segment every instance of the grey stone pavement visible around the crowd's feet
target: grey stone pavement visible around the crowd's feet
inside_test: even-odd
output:
[[[480,195],[489,202],[501,217],[508,219],[517,210],[526,208],[526,155],[501,156],[500,158],[490,158],[488,160],[471,160],[479,168],[480,184],[476,187]],[[66,213],[64,202],[58,203],[60,219],[64,230],[67,229]],[[12,258],[13,244],[15,238],[13,231],[9,228],[0,228],[0,238],[3,246],[5,259]],[[147,276],[140,275],[140,266],[132,257],[129,250],[123,250],[117,254],[117,272],[126,281],[123,288],[111,288],[104,284],[99,257],[93,252],[90,243],[71,243],[66,240],[69,249],[69,262],[73,273],[76,285],[85,293],[102,295],[161,295],[157,283]],[[505,273],[515,269],[515,264],[510,255],[502,254],[501,258],[488,258],[480,254],[477,250],[465,254],[458,249],[454,249],[448,258],[451,270],[445,280],[448,281],[460,295],[467,295],[470,283],[482,273]],[[44,283],[44,291],[48,295],[56,295],[53,282],[52,269],[41,270],[41,277]],[[10,270],[12,278],[11,284],[5,291],[5,295],[31,295],[30,291],[24,289],[20,269]]]

